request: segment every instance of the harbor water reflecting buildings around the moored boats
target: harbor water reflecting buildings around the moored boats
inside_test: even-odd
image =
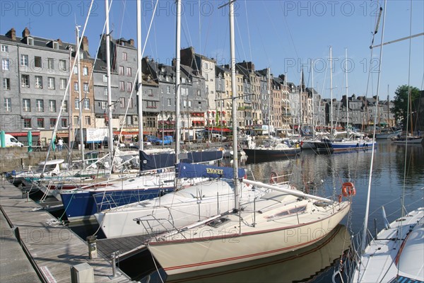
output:
[[[391,222],[401,215],[402,204],[406,212],[424,204],[423,145],[406,147],[379,140],[374,154],[371,179],[371,150],[331,155],[315,154],[311,150],[302,151],[300,156],[289,160],[249,163],[247,159],[240,162],[240,166],[252,172],[248,174],[249,178],[269,183],[271,173],[275,173],[280,176],[276,178],[278,181],[290,180],[304,192],[322,197],[333,195],[335,200],[341,194],[342,183],[355,184],[351,214],[323,241],[308,248],[184,277],[167,278],[163,272],[153,272],[146,277],[146,272],[140,271],[141,258],[121,262],[119,267],[141,282],[331,282],[334,268],[338,266],[343,250],[350,245],[351,237],[362,233],[370,180],[370,231],[383,227],[382,206]],[[230,166],[230,160],[221,165]],[[95,225],[73,226],[71,229],[82,238],[95,232],[98,238],[104,237]]]

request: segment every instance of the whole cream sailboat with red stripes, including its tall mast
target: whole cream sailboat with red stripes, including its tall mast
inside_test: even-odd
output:
[[[235,100],[235,45],[233,1],[230,6],[232,99]],[[181,8],[177,1],[177,13]],[[236,105],[232,118],[236,121]],[[237,150],[237,128],[233,123]],[[204,270],[287,253],[324,238],[348,213],[349,200],[330,200],[295,189],[266,185],[243,178],[242,183],[271,190],[252,202],[239,202],[237,155],[234,155],[235,205],[204,221],[148,238],[144,245],[167,275]],[[142,219],[139,219],[142,221]],[[139,247],[141,248],[141,247]],[[138,248],[136,248],[138,249]],[[182,256],[184,255],[184,256]]]

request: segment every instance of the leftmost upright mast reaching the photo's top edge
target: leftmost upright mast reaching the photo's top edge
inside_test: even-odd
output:
[[[109,164],[112,170],[113,161],[113,129],[112,129],[112,86],[110,83],[110,30],[109,30],[109,0],[105,0],[106,9],[106,76],[107,76],[107,117],[109,120],[109,139],[107,146],[109,147]]]

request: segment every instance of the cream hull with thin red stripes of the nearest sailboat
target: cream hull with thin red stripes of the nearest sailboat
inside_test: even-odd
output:
[[[310,200],[307,212],[266,220],[269,213],[255,214],[255,226],[243,226],[240,233],[238,214],[230,214],[224,226],[202,226],[148,243],[167,275],[193,272],[248,260],[266,258],[312,245],[324,238],[348,213],[350,203],[330,205],[321,212]],[[281,210],[287,209],[282,207]],[[314,209],[314,212],[312,212]],[[275,213],[275,210],[270,211]],[[334,212],[334,213],[333,213]],[[253,223],[252,211],[242,213],[242,222]],[[272,217],[272,216],[271,216]],[[182,236],[183,235],[183,236]]]

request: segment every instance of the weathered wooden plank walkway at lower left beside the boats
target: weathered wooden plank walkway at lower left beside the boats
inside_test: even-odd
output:
[[[0,185],[0,206],[14,227],[18,228],[21,242],[28,249],[46,282],[71,282],[71,267],[87,262],[94,271],[95,282],[131,282],[117,268],[112,277],[112,265],[99,254],[90,260],[86,241],[64,226],[48,226],[52,215],[37,203],[22,198],[21,191],[7,181]],[[3,258],[6,255],[1,255]]]

